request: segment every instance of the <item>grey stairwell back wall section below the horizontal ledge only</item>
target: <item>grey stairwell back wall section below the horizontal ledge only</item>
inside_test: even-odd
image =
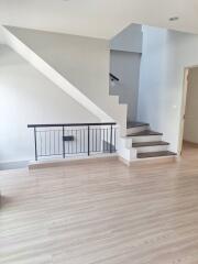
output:
[[[128,121],[135,121],[140,80],[141,54],[111,51],[110,72],[120,80],[110,86],[111,95],[119,95],[122,103],[128,103]]]

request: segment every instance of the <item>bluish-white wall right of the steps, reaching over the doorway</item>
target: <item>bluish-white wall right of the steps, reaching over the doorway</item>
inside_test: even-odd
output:
[[[143,28],[139,120],[178,150],[184,68],[198,65],[198,35]]]

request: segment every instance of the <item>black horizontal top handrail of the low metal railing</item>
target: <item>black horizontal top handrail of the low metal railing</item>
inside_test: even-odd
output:
[[[87,127],[87,125],[116,125],[116,122],[105,123],[54,123],[54,124],[28,124],[28,128],[55,128],[55,127]]]

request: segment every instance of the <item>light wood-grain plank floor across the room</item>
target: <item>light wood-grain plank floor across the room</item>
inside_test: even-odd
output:
[[[178,163],[0,173],[1,264],[198,264],[198,147]]]

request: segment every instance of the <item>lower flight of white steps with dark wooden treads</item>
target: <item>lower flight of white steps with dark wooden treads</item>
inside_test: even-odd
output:
[[[128,139],[136,151],[136,158],[169,157],[176,154],[168,151],[169,143],[162,140],[163,134],[150,130],[148,123],[128,122]]]

